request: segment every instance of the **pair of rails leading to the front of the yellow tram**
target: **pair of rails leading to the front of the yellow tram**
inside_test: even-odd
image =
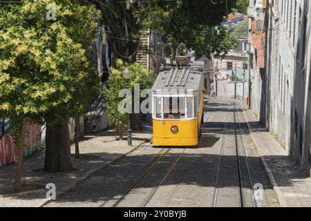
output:
[[[160,188],[160,186],[163,184],[163,182],[166,180],[166,178],[169,176],[169,174],[171,173],[171,171],[173,171],[173,169],[176,167],[176,165],[178,164],[178,162],[180,161],[180,158],[182,157],[182,155],[184,155],[185,151],[187,148],[181,148],[180,153],[178,153],[177,157],[175,157],[175,159],[171,162],[171,165],[169,166],[169,168],[165,171],[164,175],[162,175],[162,177],[160,178],[160,180],[158,180],[158,182],[153,186],[153,188],[151,189],[151,191],[149,191],[149,193],[147,194],[147,196],[144,198],[144,200],[142,201],[142,203],[140,204],[140,207],[144,207],[147,206],[147,204],[150,202],[150,200],[153,198],[153,195],[155,195],[156,191]],[[153,169],[156,168],[156,166],[158,166],[162,160],[164,159],[164,157],[167,156],[167,154],[172,150],[172,148],[162,148],[156,155],[154,155],[151,160],[149,160],[146,164],[144,164],[144,166],[142,166],[140,168],[140,170],[138,172],[135,173],[135,175],[133,175],[134,177],[134,182],[132,181],[132,184],[130,185],[130,187],[128,189],[126,189],[126,191],[124,193],[122,193],[122,195],[120,196],[120,198],[118,198],[111,207],[117,207],[120,206],[120,204],[123,202],[123,200],[126,198],[127,195],[131,194],[133,192],[133,190],[138,187],[138,185],[146,178],[148,177],[151,172],[153,171]],[[154,161],[154,162],[153,162]],[[151,164],[151,165],[150,165]],[[142,174],[141,174],[142,173]],[[131,182],[131,180],[129,181]],[[129,182],[127,182],[126,184],[129,184]],[[126,184],[124,184],[124,186],[126,186]],[[122,188],[121,188],[122,189]]]

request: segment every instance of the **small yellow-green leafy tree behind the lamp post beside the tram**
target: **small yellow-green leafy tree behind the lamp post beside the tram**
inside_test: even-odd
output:
[[[120,102],[122,102],[124,99],[124,97],[119,97],[119,93],[122,89],[127,88],[126,82],[122,76],[122,71],[126,67],[131,70],[131,80],[129,82],[131,96],[129,97],[132,98],[135,84],[140,84],[140,91],[142,91],[144,89],[151,88],[156,77],[153,75],[153,73],[144,68],[142,64],[126,64],[121,59],[118,59],[116,63],[117,68],[111,68],[109,79],[103,88],[103,93],[106,100],[104,105],[108,110],[109,121],[111,122],[113,128],[115,128],[118,139],[122,140],[124,135],[124,128],[127,122],[127,113],[120,111],[118,108]],[[134,102],[131,103],[134,104]],[[124,106],[124,108],[128,107]]]

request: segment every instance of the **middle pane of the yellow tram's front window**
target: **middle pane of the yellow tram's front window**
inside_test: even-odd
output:
[[[164,97],[164,119],[185,119],[185,97]]]

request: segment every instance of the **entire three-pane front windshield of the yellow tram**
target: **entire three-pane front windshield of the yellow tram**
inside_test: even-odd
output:
[[[194,97],[154,97],[156,119],[193,119],[196,117]],[[162,104],[163,103],[163,104]]]

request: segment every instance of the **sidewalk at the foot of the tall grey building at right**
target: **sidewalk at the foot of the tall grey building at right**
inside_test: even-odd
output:
[[[242,104],[243,105],[243,104]],[[311,178],[296,164],[278,141],[267,132],[254,113],[243,106],[250,135],[261,156],[281,206],[311,206]]]

